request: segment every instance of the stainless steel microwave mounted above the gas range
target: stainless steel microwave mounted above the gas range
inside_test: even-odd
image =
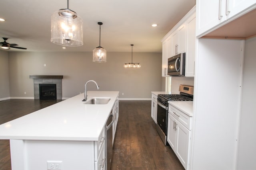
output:
[[[180,53],[168,59],[169,76],[185,76],[185,53]]]

